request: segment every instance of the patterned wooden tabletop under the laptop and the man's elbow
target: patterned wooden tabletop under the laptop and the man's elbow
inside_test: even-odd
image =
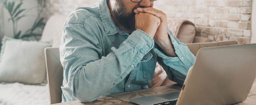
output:
[[[139,91],[107,95],[107,96],[99,97],[96,101],[92,103],[80,103],[79,101],[69,101],[65,103],[58,103],[58,104],[52,104],[52,105],[119,105],[119,104],[134,105],[133,103],[130,103],[128,100],[139,98],[139,97],[150,96],[150,95],[178,91],[178,90],[181,90],[181,88],[182,88],[182,85],[174,84],[174,85],[167,85],[167,86],[161,86],[161,87],[155,87],[155,88],[149,88],[149,89],[142,89]],[[252,85],[252,88],[250,90],[250,93],[248,94],[247,99],[241,103],[234,104],[234,105],[256,105],[256,80]]]

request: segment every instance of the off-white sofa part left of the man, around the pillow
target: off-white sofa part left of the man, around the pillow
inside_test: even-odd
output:
[[[67,17],[61,14],[50,17],[44,27],[41,41],[50,41],[52,47],[59,47]],[[0,83],[0,105],[49,105],[49,100],[47,80],[42,84]]]

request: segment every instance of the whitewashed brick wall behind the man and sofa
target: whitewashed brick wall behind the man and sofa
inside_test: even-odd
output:
[[[54,13],[69,14],[98,0],[47,0],[47,17]],[[197,27],[197,36],[212,41],[238,40],[250,43],[251,0],[158,0],[154,7],[168,19],[187,19]]]

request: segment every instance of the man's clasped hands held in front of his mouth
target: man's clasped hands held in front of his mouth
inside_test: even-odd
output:
[[[164,12],[152,7],[137,8],[134,12],[136,13],[136,30],[140,29],[146,32],[155,42],[169,39],[167,33],[167,17]]]

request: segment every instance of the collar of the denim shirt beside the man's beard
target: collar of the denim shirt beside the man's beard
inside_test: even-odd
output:
[[[101,0],[99,2],[99,10],[100,10],[100,16],[102,19],[102,23],[104,25],[105,32],[106,32],[107,36],[114,35],[117,32],[119,32],[121,35],[126,34],[124,31],[120,30],[116,26],[116,23],[114,22],[113,18],[111,17],[111,13],[108,8],[106,0]]]

